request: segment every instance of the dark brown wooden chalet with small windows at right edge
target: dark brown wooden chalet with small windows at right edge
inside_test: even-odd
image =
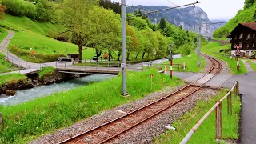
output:
[[[256,51],[256,22],[239,23],[238,26],[230,33],[231,54],[235,55],[236,46],[247,57],[250,57]]]

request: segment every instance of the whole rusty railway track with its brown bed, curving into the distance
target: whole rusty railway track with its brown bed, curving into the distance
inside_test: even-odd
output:
[[[202,78],[205,78],[205,83],[202,86],[193,86],[192,82],[187,86],[182,87],[180,90],[174,91],[174,93],[167,95],[158,101],[152,102],[149,105],[143,106],[138,110],[134,110],[129,114],[125,114],[120,118],[116,118],[110,122],[106,122],[101,126],[97,126],[94,129],[87,130],[82,134],[75,135],[72,138],[66,139],[60,143],[105,143],[110,142],[118,135],[125,133],[127,130],[133,129],[135,126],[140,125],[142,122],[146,122],[154,116],[161,114],[163,111],[175,106],[178,102],[182,102],[183,99],[190,97],[206,85],[212,78],[222,70],[222,65],[217,59],[211,58],[206,54],[202,54],[208,58],[211,62],[210,70],[204,74]],[[209,77],[210,75],[210,77]]]

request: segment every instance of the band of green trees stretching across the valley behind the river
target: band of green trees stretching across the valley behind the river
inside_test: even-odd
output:
[[[120,4],[110,0],[2,0],[6,14],[26,16],[38,22],[51,22],[61,26],[61,30],[46,34],[64,42],[78,46],[79,59],[83,50],[94,48],[95,55],[108,54],[109,60],[118,55],[121,58],[121,18]],[[176,54],[190,54],[198,35],[182,27],[166,22],[154,24],[146,14],[127,14],[127,60],[137,58],[164,58],[173,48]],[[140,15],[138,15],[140,14]],[[202,43],[206,40],[202,37]],[[194,45],[196,46],[196,44]]]

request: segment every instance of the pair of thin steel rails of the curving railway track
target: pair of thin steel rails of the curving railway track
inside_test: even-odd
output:
[[[213,66],[210,68],[210,70],[209,70],[206,74],[204,74],[204,75],[202,76],[202,78],[204,78],[207,74],[210,74],[210,73],[214,70],[214,66],[215,66],[214,61],[218,62],[218,60],[216,60],[215,58],[211,58],[211,57],[207,56],[206,54],[202,54],[202,55],[205,56],[206,58],[208,58],[208,59],[210,60],[210,62],[212,62],[212,64],[213,64]],[[213,61],[212,59],[214,59],[214,61]],[[219,74],[219,72],[222,70],[222,68],[221,68],[221,63],[218,62],[218,64],[219,64],[219,67],[220,67],[220,68],[218,69],[218,72],[214,74],[214,76],[213,76],[212,78],[214,78],[214,77],[215,77],[217,74]],[[198,82],[198,81],[199,81],[200,79],[202,79],[202,78],[199,78],[199,79],[198,79],[197,81],[195,81],[195,82]],[[207,82],[209,82],[212,78],[210,78]],[[64,141],[62,141],[62,142],[58,142],[58,144],[70,142],[70,141],[72,141],[72,140],[74,140],[74,139],[76,139],[76,138],[82,137],[83,135],[89,134],[90,132],[93,132],[94,130],[98,130],[99,128],[101,128],[101,127],[103,127],[103,126],[107,126],[107,125],[109,125],[110,123],[116,122],[116,121],[118,121],[118,120],[120,120],[120,119],[122,119],[122,118],[126,118],[127,116],[129,116],[129,115],[131,115],[131,114],[134,114],[134,113],[138,112],[139,110],[142,110],[142,109],[145,109],[146,107],[152,106],[152,105],[154,105],[155,103],[160,102],[160,101],[162,101],[162,100],[164,100],[164,99],[166,99],[166,98],[170,98],[170,96],[172,96],[172,95],[174,95],[174,94],[177,94],[178,92],[181,92],[182,90],[185,90],[186,88],[192,86],[195,82],[191,82],[191,83],[188,84],[187,86],[184,86],[184,87],[182,87],[181,89],[174,91],[172,94],[169,94],[169,95],[167,95],[167,96],[165,96],[165,97],[163,97],[163,98],[160,98],[160,99],[158,99],[157,101],[152,102],[152,103],[150,103],[150,104],[148,104],[148,105],[146,105],[146,106],[142,106],[141,108],[139,108],[139,109],[137,109],[137,110],[134,110],[134,111],[132,111],[132,112],[130,112],[130,113],[128,113],[128,114],[125,114],[125,115],[123,115],[123,116],[120,117],[120,118],[115,118],[114,120],[112,120],[112,121],[110,121],[110,122],[106,122],[106,123],[104,123],[104,124],[102,124],[102,125],[100,125],[100,126],[97,126],[97,127],[93,128],[93,129],[91,129],[91,130],[87,130],[86,132],[83,132],[82,134],[77,134],[77,135],[75,135],[75,136],[72,137],[72,138],[68,138],[68,139],[66,139],[66,140],[64,140]],[[207,83],[207,82],[206,82],[206,83]],[[105,139],[104,141],[99,142],[99,143],[108,142],[108,141],[110,141],[111,139],[117,137],[118,135],[123,134],[123,133],[126,132],[127,130],[132,129],[134,126],[138,126],[138,125],[141,124],[142,122],[145,122],[146,120],[148,120],[148,119],[154,117],[155,115],[162,113],[162,111],[165,111],[165,110],[169,109],[171,106],[176,105],[178,102],[181,102],[183,99],[189,97],[191,94],[194,94],[196,91],[200,90],[203,86],[206,85],[206,83],[202,84],[202,86],[198,87],[197,90],[192,91],[190,94],[186,94],[185,97],[178,99],[178,101],[174,102],[174,103],[171,104],[170,106],[166,106],[166,108],[164,108],[164,109],[162,109],[162,110],[159,110],[158,112],[156,112],[155,114],[149,116],[148,118],[145,118],[145,119],[143,119],[143,120],[140,121],[140,122],[137,122],[137,123],[134,124],[133,126],[130,126],[128,129],[122,130],[122,131],[119,132],[118,134],[115,134],[114,136],[112,136],[112,137],[110,137],[110,138],[107,138],[107,139]]]

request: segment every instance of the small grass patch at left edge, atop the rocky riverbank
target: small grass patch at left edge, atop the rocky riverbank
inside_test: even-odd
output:
[[[20,80],[26,79],[26,76],[23,74],[6,74],[0,75],[0,86],[3,86],[8,83],[18,82]]]

